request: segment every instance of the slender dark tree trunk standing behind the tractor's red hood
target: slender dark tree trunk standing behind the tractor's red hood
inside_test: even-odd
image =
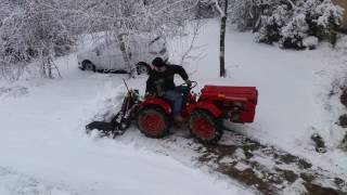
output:
[[[221,17],[220,22],[220,77],[226,77],[226,27],[227,27],[227,14],[228,14],[228,0],[224,0],[224,15]]]

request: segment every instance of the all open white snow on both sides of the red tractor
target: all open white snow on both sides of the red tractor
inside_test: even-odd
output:
[[[347,180],[347,155],[336,148],[343,138],[335,125],[338,112],[327,106],[332,78],[344,70],[347,56],[329,46],[316,51],[279,50],[255,43],[250,34],[229,29],[228,78],[220,79],[218,35],[217,23],[208,23],[193,51],[200,57],[184,66],[200,88],[206,83],[258,88],[256,121],[227,123],[228,128]],[[171,42],[172,62],[179,61],[180,52]],[[168,155],[152,150],[157,141],[134,128],[116,140],[87,135],[86,123],[119,106],[124,76],[80,72],[75,55],[56,63],[63,79],[0,82],[1,195],[255,193],[196,169],[190,151]],[[129,86],[143,92],[144,80],[129,80]],[[313,132],[324,138],[327,153],[316,153]],[[151,142],[154,147],[143,146]]]

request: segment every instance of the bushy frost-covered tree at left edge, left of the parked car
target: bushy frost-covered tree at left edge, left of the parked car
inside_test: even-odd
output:
[[[60,75],[53,57],[70,50],[74,38],[66,29],[62,15],[48,12],[46,4],[54,1],[21,0],[11,14],[2,20],[0,27],[0,57],[2,69],[23,67],[38,60],[42,76]],[[13,2],[12,2],[13,3]],[[55,70],[53,73],[53,70]],[[11,74],[11,73],[7,73]]]

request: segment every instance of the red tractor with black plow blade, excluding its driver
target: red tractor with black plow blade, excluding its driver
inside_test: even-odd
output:
[[[188,122],[191,134],[202,143],[217,143],[223,133],[222,120],[232,122],[253,122],[258,92],[254,87],[205,86],[197,95],[192,92],[196,87],[185,87],[182,92],[184,107],[182,116]],[[123,134],[136,120],[140,131],[150,138],[163,138],[171,127],[170,102],[157,96],[140,100],[137,90],[128,90],[121,110],[111,122],[108,131],[114,135]],[[87,129],[98,128],[100,123],[90,123]],[[105,127],[103,128],[105,130]]]

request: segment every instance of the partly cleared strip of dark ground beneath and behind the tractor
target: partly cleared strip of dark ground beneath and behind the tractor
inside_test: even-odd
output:
[[[218,145],[202,145],[187,130],[172,130],[171,135],[155,140],[131,129],[116,141],[136,144],[171,156],[188,166],[207,169],[207,172],[236,181],[259,194],[347,194],[345,178],[234,131],[226,131]]]

